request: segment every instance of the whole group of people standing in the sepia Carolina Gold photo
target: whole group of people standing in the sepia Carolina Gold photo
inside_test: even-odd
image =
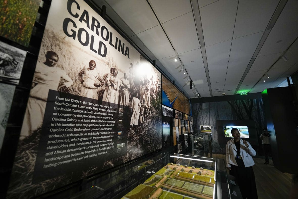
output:
[[[144,58],[141,57],[140,61],[142,59]],[[57,67],[58,61],[59,55],[48,51],[45,61],[36,65],[21,139],[41,128],[49,89],[59,91],[65,87],[68,89],[64,89],[64,92],[73,94],[71,86],[76,81],[74,78],[81,84],[78,88],[81,97],[98,100],[98,104],[112,109],[120,108],[123,111],[124,107],[130,107],[129,124],[133,132],[158,108],[157,100],[160,100],[161,95],[160,77],[154,70],[150,74],[136,75],[136,71],[141,67],[139,62],[135,66],[131,63],[129,67],[113,64],[109,71],[100,74],[95,70],[97,63],[90,60],[87,62],[88,67],[83,66],[77,72],[77,77],[69,77],[65,70]],[[122,72],[121,77],[118,70]]]

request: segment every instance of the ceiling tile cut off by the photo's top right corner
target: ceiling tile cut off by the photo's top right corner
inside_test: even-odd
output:
[[[287,2],[258,56],[283,52],[295,41],[298,35],[297,10],[298,1]]]

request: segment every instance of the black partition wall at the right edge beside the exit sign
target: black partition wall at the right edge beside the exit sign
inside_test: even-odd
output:
[[[297,112],[290,87],[262,92],[274,166],[281,172],[297,173]]]

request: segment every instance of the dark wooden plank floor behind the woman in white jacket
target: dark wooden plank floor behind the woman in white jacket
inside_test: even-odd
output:
[[[213,154],[213,158],[223,158],[225,155]],[[254,177],[256,179],[259,199],[290,198],[292,174],[280,172],[273,166],[272,160],[264,164],[263,158],[253,158],[255,165]]]

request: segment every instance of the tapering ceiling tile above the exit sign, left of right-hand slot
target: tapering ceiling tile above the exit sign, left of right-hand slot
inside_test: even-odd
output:
[[[235,90],[263,33],[233,39],[224,90]]]

